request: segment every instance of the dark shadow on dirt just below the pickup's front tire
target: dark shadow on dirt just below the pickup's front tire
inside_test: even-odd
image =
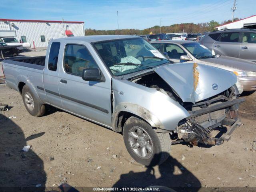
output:
[[[155,154],[158,158],[160,154]],[[156,178],[156,170],[159,170],[160,177]],[[159,166],[148,166],[145,172],[130,171],[122,174],[113,187],[148,187],[148,186],[165,186],[178,192],[196,192],[200,189],[201,183],[180,162],[169,156],[163,164]]]

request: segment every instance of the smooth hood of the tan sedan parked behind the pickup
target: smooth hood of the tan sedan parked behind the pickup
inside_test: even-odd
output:
[[[228,66],[234,68],[234,70],[238,69],[241,71],[256,71],[256,64],[254,62],[234,57],[219,56],[202,59],[202,62],[208,62],[220,66]]]

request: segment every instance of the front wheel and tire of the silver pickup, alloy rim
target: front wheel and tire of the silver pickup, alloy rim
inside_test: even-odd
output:
[[[125,122],[123,137],[129,154],[140,164],[159,165],[170,155],[170,134],[158,133],[150,124],[134,116]]]

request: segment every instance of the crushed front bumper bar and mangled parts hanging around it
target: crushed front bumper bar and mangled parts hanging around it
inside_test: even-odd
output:
[[[240,119],[237,117],[237,110],[239,104],[242,102],[244,102],[243,98],[237,98],[221,104],[191,111],[190,116],[186,118],[186,122],[175,130],[178,134],[178,138],[192,145],[198,145],[199,143],[207,145],[223,144],[230,139],[232,132],[241,124]],[[218,119],[212,119],[211,113],[218,110],[224,110],[226,113]],[[206,124],[196,121],[196,118],[202,115],[209,117],[207,126],[205,126]],[[214,137],[211,134],[212,130],[218,130],[220,132]]]

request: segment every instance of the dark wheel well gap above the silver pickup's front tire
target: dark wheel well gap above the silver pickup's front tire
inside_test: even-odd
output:
[[[114,131],[116,132],[122,132],[123,131],[123,127],[124,127],[124,123],[126,122],[126,120],[128,120],[128,118],[130,118],[131,116],[137,117],[143,121],[145,121],[146,123],[150,124],[149,122],[147,122],[145,119],[141,118],[140,116],[137,116],[133,113],[127,112],[127,111],[121,111],[118,113],[118,116],[116,118],[116,122],[115,122],[115,127],[114,127]]]

